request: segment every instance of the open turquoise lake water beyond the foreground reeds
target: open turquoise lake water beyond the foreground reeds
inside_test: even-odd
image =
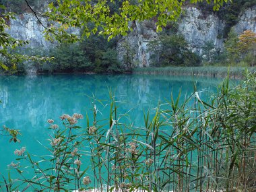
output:
[[[197,79],[197,90],[201,99],[207,100],[216,92],[222,79]],[[143,109],[153,108],[160,101],[174,98],[182,89],[182,98],[193,92],[191,77],[165,77],[148,75],[35,75],[0,76],[1,126],[19,129],[21,143],[9,143],[9,137],[0,139],[0,172],[7,176],[7,164],[15,161],[13,152],[25,146],[30,154],[44,155],[40,145],[50,146],[47,119],[61,124],[60,115],[73,113],[91,114],[93,94],[100,100],[109,100],[108,90],[113,90],[119,104],[119,113],[130,109],[127,121],[143,126]],[[99,119],[108,118],[107,107],[101,106]],[[153,113],[153,112],[152,112]],[[91,117],[91,115],[90,115]],[[86,120],[79,125],[86,126]],[[40,141],[40,143],[38,143]],[[85,165],[84,165],[85,166]],[[15,174],[14,174],[15,177]]]

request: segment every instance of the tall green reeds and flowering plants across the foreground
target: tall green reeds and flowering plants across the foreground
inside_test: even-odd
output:
[[[9,168],[20,179],[3,175],[0,190],[255,191],[256,73],[247,71],[235,87],[226,78],[210,102],[201,100],[196,84],[185,100],[180,96],[144,112],[141,127],[123,121],[127,114],[118,113],[111,92],[104,119],[95,98],[92,120],[76,113],[61,115],[62,125],[48,119],[49,156],[15,150],[18,162]],[[81,119],[86,127],[77,125]],[[1,131],[20,141],[18,130]]]

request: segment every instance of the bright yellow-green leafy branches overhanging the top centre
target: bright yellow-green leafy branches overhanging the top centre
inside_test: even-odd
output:
[[[223,3],[230,0],[191,0],[191,3],[206,1],[214,3],[214,10],[218,10]],[[119,9],[111,10],[119,3]],[[108,36],[108,40],[117,35],[125,36],[131,22],[156,19],[156,30],[161,31],[168,21],[174,21],[182,13],[182,6],[186,0],[57,0],[49,4],[46,15],[53,22],[46,29],[49,40],[77,40],[67,33],[67,28],[83,29],[84,36],[98,32]],[[56,26],[54,22],[59,22]]]

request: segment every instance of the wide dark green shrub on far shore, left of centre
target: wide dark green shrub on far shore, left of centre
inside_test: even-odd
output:
[[[49,53],[55,59],[37,67],[44,72],[120,73],[117,51],[110,49],[113,42],[102,41],[104,39],[94,37],[77,44],[59,44]]]

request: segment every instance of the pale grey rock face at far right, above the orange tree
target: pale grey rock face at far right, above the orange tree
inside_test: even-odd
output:
[[[247,9],[243,15],[240,15],[238,24],[233,28],[237,34],[241,34],[245,30],[256,32],[256,6]]]

